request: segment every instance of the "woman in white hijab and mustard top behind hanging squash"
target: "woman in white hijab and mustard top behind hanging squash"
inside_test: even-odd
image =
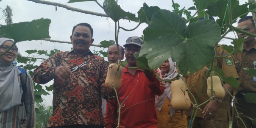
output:
[[[172,79],[178,75],[176,63],[168,58],[158,69],[163,79]],[[156,115],[158,128],[187,128],[186,115],[181,116],[181,111],[175,111],[171,106],[171,82],[166,82],[164,94],[156,96]]]

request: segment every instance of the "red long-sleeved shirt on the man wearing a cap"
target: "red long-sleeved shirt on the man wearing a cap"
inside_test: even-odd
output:
[[[162,95],[165,86],[160,86],[156,75],[153,75],[150,80],[139,69],[132,75],[127,68],[123,68],[122,86],[117,92],[119,101],[122,103],[121,128],[157,128],[155,95]],[[118,109],[116,97],[107,101],[105,128],[111,128],[112,125],[117,124]]]

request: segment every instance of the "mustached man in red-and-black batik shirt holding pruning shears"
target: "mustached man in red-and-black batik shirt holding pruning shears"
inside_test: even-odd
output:
[[[53,114],[47,127],[103,128],[100,90],[107,65],[89,50],[92,35],[91,25],[75,25],[70,36],[73,49],[54,54],[34,70],[36,83],[54,79]]]

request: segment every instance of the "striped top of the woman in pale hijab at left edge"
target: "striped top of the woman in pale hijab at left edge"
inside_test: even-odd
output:
[[[22,83],[18,76],[20,90]],[[14,106],[7,111],[0,113],[0,128],[35,128],[36,111],[34,104],[34,86],[29,73],[27,72],[27,89],[25,91],[25,100],[22,106]],[[21,92],[21,96],[22,96]]]

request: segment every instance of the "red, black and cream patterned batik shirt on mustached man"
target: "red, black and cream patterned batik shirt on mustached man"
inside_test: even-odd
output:
[[[33,81],[47,83],[54,78],[57,67],[76,67],[70,79],[53,83],[53,114],[47,127],[64,125],[104,125],[101,111],[101,85],[105,82],[107,65],[100,56],[88,52],[79,56],[71,50],[59,52],[42,62],[34,70]]]

